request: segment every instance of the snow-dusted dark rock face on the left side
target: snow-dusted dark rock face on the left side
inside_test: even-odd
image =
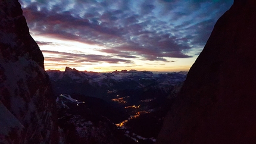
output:
[[[21,5],[0,1],[0,143],[55,143],[51,97],[43,55]]]

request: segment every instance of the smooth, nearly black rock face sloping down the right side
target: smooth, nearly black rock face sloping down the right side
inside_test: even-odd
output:
[[[192,65],[157,143],[256,143],[256,1],[235,1]]]

